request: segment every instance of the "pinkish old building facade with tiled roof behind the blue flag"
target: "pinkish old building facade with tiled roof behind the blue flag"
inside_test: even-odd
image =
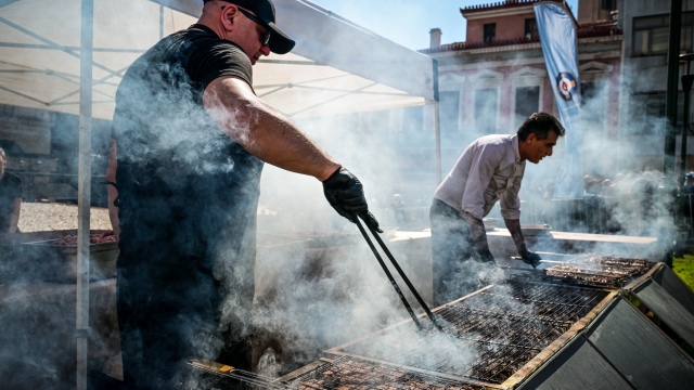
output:
[[[461,9],[467,21],[465,42],[440,44],[441,31],[432,30],[433,44],[423,52],[439,61],[445,172],[477,136],[514,133],[535,112],[558,117],[535,20],[537,2],[507,0]],[[568,9],[562,0],[554,2]],[[601,176],[611,168],[596,164],[596,157],[608,154],[619,138],[615,113],[620,109],[622,30],[614,18],[616,9],[616,1],[581,0],[576,23],[582,106],[590,113],[582,116],[583,138],[591,145],[584,147],[583,170]]]

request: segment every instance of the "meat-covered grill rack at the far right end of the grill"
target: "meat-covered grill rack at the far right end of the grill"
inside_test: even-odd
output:
[[[578,285],[616,288],[644,274],[652,265],[642,259],[586,255],[564,264],[550,266],[545,274]]]

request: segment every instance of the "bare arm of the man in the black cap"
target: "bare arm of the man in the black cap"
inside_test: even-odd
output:
[[[229,138],[268,164],[320,181],[339,168],[337,161],[239,78],[220,77],[210,82],[203,105]]]

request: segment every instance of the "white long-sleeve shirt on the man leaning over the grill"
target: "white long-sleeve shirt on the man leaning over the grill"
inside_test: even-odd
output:
[[[434,197],[480,220],[501,199],[501,216],[519,219],[524,172],[518,135],[486,135],[467,146]]]

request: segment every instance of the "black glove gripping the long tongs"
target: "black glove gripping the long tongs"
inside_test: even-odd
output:
[[[339,167],[323,181],[323,193],[337,213],[352,223],[357,223],[357,218],[361,216],[369,227],[383,233],[378,221],[369,212],[361,182],[350,171]]]

